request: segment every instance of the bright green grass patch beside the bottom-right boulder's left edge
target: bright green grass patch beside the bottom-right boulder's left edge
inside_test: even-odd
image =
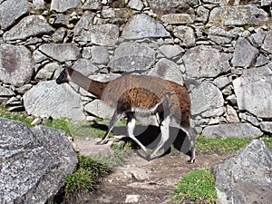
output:
[[[187,173],[175,189],[173,199],[181,202],[215,203],[217,192],[214,177],[209,170],[192,170]]]

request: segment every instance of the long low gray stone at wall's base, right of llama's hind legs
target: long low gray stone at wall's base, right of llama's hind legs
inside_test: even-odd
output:
[[[226,123],[206,127],[202,135],[206,138],[257,138],[263,132],[249,123]]]

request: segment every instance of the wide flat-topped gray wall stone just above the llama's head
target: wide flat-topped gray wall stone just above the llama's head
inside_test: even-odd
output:
[[[75,44],[42,44],[39,51],[62,63],[77,60],[81,56]]]

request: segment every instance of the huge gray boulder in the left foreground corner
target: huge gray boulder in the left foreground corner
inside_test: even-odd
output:
[[[64,131],[42,126],[32,130],[0,119],[1,203],[42,204],[64,185],[77,163]]]

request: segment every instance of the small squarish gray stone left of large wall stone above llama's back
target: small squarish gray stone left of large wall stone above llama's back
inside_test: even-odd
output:
[[[92,63],[109,63],[110,54],[104,46],[92,46]]]

